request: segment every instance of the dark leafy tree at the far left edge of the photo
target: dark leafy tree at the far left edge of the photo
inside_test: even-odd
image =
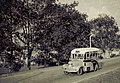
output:
[[[6,60],[13,64],[16,55],[15,51],[21,52],[20,45],[13,42],[13,34],[18,29],[20,23],[20,15],[16,10],[21,2],[16,0],[1,0],[0,1],[0,55],[4,54]]]

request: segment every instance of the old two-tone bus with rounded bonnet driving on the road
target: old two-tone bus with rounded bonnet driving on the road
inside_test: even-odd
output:
[[[71,51],[68,64],[63,65],[64,73],[76,72],[82,75],[84,72],[97,71],[102,68],[100,56],[101,50],[98,48],[75,48]]]

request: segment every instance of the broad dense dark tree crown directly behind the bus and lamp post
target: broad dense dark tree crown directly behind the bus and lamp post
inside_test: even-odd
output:
[[[90,24],[87,15],[79,13],[73,4],[47,3],[37,19],[35,42],[47,53],[70,54],[76,47],[88,47]]]

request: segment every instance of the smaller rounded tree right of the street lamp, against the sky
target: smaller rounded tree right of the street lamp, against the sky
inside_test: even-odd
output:
[[[118,25],[112,16],[101,14],[99,17],[90,21],[95,37],[93,37],[93,46],[102,49],[114,48],[118,37]]]

